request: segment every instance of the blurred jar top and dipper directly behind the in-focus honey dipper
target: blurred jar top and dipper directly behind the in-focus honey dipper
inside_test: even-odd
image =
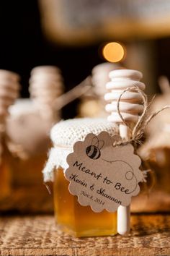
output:
[[[106,93],[105,85],[109,82],[109,72],[120,69],[120,64],[104,62],[95,66],[91,71],[91,83],[93,87],[81,97],[78,115],[81,117],[97,117],[106,116],[104,110],[105,102],[103,95]]]

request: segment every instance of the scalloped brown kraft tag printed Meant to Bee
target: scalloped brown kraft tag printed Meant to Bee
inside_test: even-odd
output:
[[[69,192],[78,197],[80,205],[90,205],[96,213],[128,206],[131,197],[140,192],[141,160],[130,143],[113,145],[119,140],[120,136],[111,137],[107,132],[89,134],[73,145],[73,153],[67,157]]]

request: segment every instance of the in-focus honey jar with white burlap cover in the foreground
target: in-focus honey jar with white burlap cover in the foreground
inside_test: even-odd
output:
[[[73,119],[60,121],[51,130],[54,148],[50,150],[48,162],[43,171],[44,181],[53,180],[55,221],[58,229],[74,236],[106,236],[117,234],[117,213],[103,210],[94,213],[90,206],[81,206],[76,196],[68,191],[69,182],[64,176],[66,157],[73,150],[73,144],[84,140],[86,135],[98,135],[102,131],[115,133],[115,127],[105,119]],[[55,171],[53,171],[55,169]]]

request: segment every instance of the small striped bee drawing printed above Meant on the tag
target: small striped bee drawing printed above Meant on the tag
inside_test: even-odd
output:
[[[89,145],[86,148],[86,155],[89,156],[91,159],[98,159],[101,155],[100,150],[104,146],[104,141],[103,140],[98,140],[98,138],[95,136],[91,140],[91,145]]]

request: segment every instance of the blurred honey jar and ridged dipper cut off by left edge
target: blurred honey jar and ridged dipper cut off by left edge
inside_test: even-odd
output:
[[[0,204],[10,197],[12,189],[11,158],[6,137],[6,116],[8,108],[18,97],[19,75],[0,69]]]

